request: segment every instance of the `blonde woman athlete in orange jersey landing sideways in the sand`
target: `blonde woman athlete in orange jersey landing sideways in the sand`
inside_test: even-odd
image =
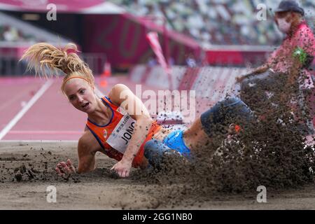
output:
[[[162,148],[161,144],[189,155],[211,141],[215,132],[227,132],[230,125],[230,121],[225,124],[227,118],[251,117],[251,110],[244,102],[228,98],[202,113],[186,130],[165,132],[126,85],[116,84],[106,97],[97,97],[92,71],[76,52],[73,43],[62,49],[49,43],[36,43],[21,58],[28,59],[28,69],[34,68],[40,76],[49,75],[45,73],[46,67],[62,71],[62,92],[76,109],[87,114],[85,132],[78,140],[78,168],[69,159],[59,162],[55,168],[64,178],[73,172],[94,170],[97,152],[117,160],[111,169],[120,177],[127,177],[131,167],[146,169],[154,162],[151,151]],[[152,139],[158,144],[153,144]]]

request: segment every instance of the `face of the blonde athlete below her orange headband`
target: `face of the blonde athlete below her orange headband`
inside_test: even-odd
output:
[[[64,85],[64,93],[69,102],[79,111],[91,113],[97,106],[94,90],[81,78],[72,78]]]

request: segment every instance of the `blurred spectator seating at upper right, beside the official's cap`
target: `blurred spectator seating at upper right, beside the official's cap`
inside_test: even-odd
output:
[[[281,33],[272,20],[273,0],[111,0],[135,15],[167,18],[167,27],[193,36],[204,47],[213,45],[279,45]],[[259,3],[266,3],[267,20],[256,20]],[[301,2],[314,26],[315,1]],[[159,22],[159,21],[158,21]]]

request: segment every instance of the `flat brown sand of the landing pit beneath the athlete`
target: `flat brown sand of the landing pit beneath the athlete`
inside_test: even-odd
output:
[[[153,184],[118,179],[109,172],[115,161],[97,154],[97,169],[68,181],[55,174],[57,162],[77,165],[76,142],[1,142],[0,209],[315,209],[314,184],[290,190],[267,189],[267,203],[258,203],[256,189],[241,194],[184,195],[172,192],[185,183]],[[48,186],[57,202],[46,200]],[[160,197],[159,197],[160,195]]]

